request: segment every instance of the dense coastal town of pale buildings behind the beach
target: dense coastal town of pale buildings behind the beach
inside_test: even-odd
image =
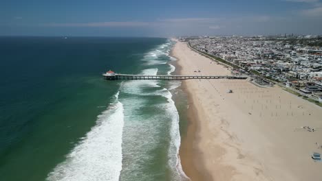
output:
[[[180,38],[206,55],[252,76],[258,84],[279,84],[322,102],[320,36],[200,36]]]

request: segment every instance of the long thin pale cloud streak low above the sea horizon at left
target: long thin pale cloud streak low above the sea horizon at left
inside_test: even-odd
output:
[[[49,23],[50,27],[142,27],[149,25],[149,22],[140,21],[109,21],[93,23]]]

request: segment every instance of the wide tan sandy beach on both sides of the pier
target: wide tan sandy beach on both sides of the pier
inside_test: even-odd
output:
[[[182,75],[230,75],[186,43],[176,43],[173,56]],[[322,153],[322,108],[248,80],[185,80],[183,86],[190,123],[180,158],[191,180],[322,180],[322,162],[310,158]]]

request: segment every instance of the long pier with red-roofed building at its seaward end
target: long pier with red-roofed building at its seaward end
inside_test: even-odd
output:
[[[129,75],[129,74],[107,74],[103,73],[105,80],[191,80],[191,79],[231,79],[246,80],[247,77],[228,75]]]

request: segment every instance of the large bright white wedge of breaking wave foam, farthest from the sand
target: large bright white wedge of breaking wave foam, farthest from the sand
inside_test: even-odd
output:
[[[98,116],[96,125],[48,175],[47,180],[115,180],[122,169],[123,105],[116,101]]]

